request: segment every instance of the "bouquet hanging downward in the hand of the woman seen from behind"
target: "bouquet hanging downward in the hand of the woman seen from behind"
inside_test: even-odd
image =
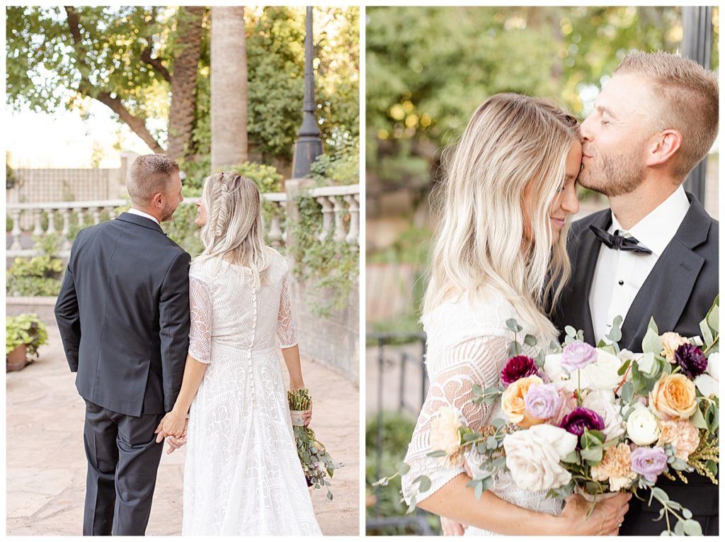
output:
[[[315,489],[326,487],[327,498],[332,500],[331,483],[327,478],[331,478],[335,469],[342,467],[342,464],[332,461],[325,445],[315,439],[315,432],[305,426],[302,416],[299,416],[299,413],[310,408],[310,404],[312,404],[310,392],[307,388],[288,391],[287,401],[292,416],[292,430],[294,431],[294,441],[297,444],[297,455],[302,464],[302,470],[305,472],[307,486],[314,486]]]

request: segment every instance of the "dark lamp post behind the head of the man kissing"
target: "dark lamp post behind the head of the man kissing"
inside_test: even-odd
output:
[[[698,64],[711,69],[713,52],[713,8],[711,6],[682,8],[682,56],[695,60]],[[705,158],[684,182],[688,192],[697,200],[705,200]]]

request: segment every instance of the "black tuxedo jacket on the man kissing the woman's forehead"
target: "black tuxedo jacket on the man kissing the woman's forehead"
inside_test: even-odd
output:
[[[692,194],[687,194],[687,198],[690,206],[684,221],[642,284],[622,323],[621,348],[642,351],[642,340],[651,316],[660,333],[674,331],[684,337],[699,335],[700,321],[718,295],[718,223],[705,213]],[[590,224],[608,229],[611,226],[610,210],[573,223],[568,239],[571,281],[552,311],[552,319],[562,330],[561,340],[565,336],[564,327],[571,325],[583,329],[584,340],[594,345],[589,290],[602,244],[589,229]],[[605,247],[603,250],[610,249]],[[692,511],[705,535],[716,535],[718,486],[696,473],[687,475],[687,479],[689,483],[684,485],[660,477],[657,485],[674,501]],[[620,535],[659,535],[665,529],[664,520],[653,521],[659,515],[656,501],[653,506],[647,506],[646,502],[632,498],[629,507]]]

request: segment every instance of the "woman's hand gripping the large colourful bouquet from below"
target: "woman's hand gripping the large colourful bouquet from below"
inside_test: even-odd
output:
[[[592,514],[587,517],[592,503],[581,495],[570,495],[559,516],[563,520],[565,535],[610,535],[616,536],[629,510],[631,493],[619,493],[616,496],[598,501]]]

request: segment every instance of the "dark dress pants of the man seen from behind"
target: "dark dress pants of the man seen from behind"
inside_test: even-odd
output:
[[[83,535],[144,535],[163,443],[162,414],[128,416],[86,401]]]

